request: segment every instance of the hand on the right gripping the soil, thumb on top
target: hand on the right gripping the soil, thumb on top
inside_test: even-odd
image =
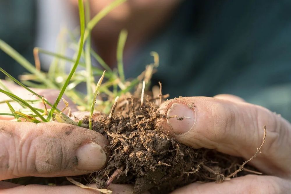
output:
[[[193,107],[192,109],[189,107]],[[232,95],[175,98],[159,111],[182,121],[163,118],[159,127],[195,149],[205,147],[248,160],[263,139],[262,153],[249,163],[267,175],[247,175],[222,184],[193,183],[173,193],[288,193],[291,191],[291,125],[264,107]]]

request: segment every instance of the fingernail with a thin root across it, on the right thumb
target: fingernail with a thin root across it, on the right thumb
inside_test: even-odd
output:
[[[173,103],[167,112],[167,121],[177,134],[186,133],[195,124],[195,111],[185,104]]]

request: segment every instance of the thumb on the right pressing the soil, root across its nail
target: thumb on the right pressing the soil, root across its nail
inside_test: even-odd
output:
[[[290,176],[290,123],[263,107],[216,98],[184,97],[166,101],[159,111],[168,117],[158,121],[159,128],[181,143],[245,159],[262,143],[265,125],[267,137],[262,154],[251,163],[262,172]]]

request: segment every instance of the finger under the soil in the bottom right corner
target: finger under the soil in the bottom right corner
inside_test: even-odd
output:
[[[289,193],[290,181],[273,176],[246,175],[223,183],[193,183],[179,188],[171,194],[212,194],[212,193]]]

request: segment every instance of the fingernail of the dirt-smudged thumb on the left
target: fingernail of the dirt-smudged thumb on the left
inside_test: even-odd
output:
[[[99,170],[107,160],[103,148],[94,142],[82,145],[76,151],[79,170]]]

